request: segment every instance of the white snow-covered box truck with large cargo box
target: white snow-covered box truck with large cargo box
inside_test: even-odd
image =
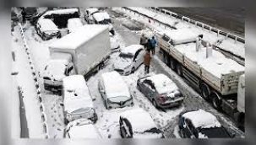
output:
[[[54,41],[44,72],[45,89],[62,90],[63,78],[73,74],[90,78],[104,66],[111,54],[107,25],[84,25]]]

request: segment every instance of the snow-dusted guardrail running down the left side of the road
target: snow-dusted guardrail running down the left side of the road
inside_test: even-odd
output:
[[[30,69],[31,69],[31,73],[33,75],[33,80],[35,81],[35,88],[36,88],[36,96],[37,96],[37,100],[38,100],[38,104],[39,104],[39,110],[41,111],[41,121],[42,121],[42,128],[43,128],[43,132],[45,133],[45,138],[49,138],[49,133],[48,133],[48,126],[46,124],[46,114],[45,114],[45,106],[43,105],[42,103],[42,99],[41,99],[41,89],[39,87],[39,83],[38,83],[38,78],[36,76],[36,72],[35,72],[35,66],[33,64],[33,61],[32,61],[32,57],[30,55],[30,50],[29,50],[29,46],[25,40],[25,35],[24,35],[24,30],[22,28],[22,25],[19,23],[19,31],[20,31],[20,34],[22,36],[22,40],[24,42],[24,46],[25,46],[25,52],[28,56],[28,59],[29,59],[29,63],[30,63]],[[24,96],[24,94],[22,94]]]

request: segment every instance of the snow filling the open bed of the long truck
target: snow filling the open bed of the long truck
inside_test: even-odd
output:
[[[203,47],[197,52],[196,43],[177,45],[175,48],[184,56],[187,56],[192,62],[199,64],[199,66],[217,78],[221,78],[221,74],[242,72],[245,70],[245,67],[226,58],[220,51],[215,51],[214,49],[212,50],[212,56],[206,58],[206,48]]]

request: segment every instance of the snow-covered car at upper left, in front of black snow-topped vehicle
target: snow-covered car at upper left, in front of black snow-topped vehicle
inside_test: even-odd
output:
[[[50,40],[53,37],[60,38],[61,32],[57,29],[52,19],[39,19],[35,24],[35,30],[42,40]]]

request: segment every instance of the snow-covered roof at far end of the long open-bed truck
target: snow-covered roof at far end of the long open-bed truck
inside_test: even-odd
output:
[[[171,38],[174,45],[194,41],[199,36],[189,29],[166,30],[164,33]]]

